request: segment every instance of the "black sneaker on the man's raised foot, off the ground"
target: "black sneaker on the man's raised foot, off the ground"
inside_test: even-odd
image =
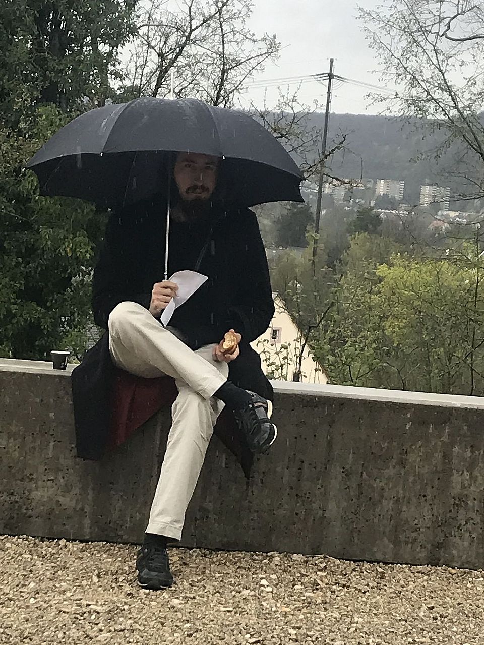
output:
[[[252,452],[267,452],[277,437],[276,426],[269,421],[272,403],[254,392],[248,392],[250,401],[242,410],[235,410],[238,427],[246,435]]]

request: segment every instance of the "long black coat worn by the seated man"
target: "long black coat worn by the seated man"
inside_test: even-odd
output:
[[[108,327],[110,312],[123,301],[148,308],[153,284],[163,279],[166,204],[139,203],[113,213],[93,278],[95,322]],[[208,275],[173,315],[192,348],[220,342],[234,328],[242,334],[240,356],[229,364],[229,380],[267,399],[273,390],[249,346],[269,326],[274,304],[266,253],[255,214],[250,210],[213,210],[191,227],[172,225],[169,275],[191,269]],[[101,459],[108,442],[114,368],[105,333],[72,372],[77,455]]]

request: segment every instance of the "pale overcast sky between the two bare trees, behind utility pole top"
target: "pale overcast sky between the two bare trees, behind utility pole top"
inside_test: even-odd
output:
[[[374,8],[381,0],[361,0],[360,5]],[[267,64],[266,70],[255,77],[271,81],[280,77],[317,74],[329,70],[334,58],[334,72],[350,79],[379,84],[378,61],[367,46],[354,0],[253,0],[253,17],[249,26],[256,34],[276,34],[282,44],[277,65]],[[282,83],[284,87],[287,83]],[[296,84],[291,84],[296,88]],[[370,107],[365,94],[369,90],[350,84],[336,84],[332,112],[378,114],[381,106]],[[304,103],[318,98],[325,103],[325,84],[304,83],[300,97]],[[276,100],[277,90],[267,88],[268,107]],[[264,88],[251,87],[244,99],[262,103]]]

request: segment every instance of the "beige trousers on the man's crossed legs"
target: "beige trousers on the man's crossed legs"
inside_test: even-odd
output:
[[[118,367],[148,379],[175,379],[179,395],[171,409],[166,444],[147,533],[179,540],[213,426],[224,404],[213,393],[227,381],[226,362],[215,362],[213,345],[196,352],[137,303],[124,302],[109,317],[110,353]]]

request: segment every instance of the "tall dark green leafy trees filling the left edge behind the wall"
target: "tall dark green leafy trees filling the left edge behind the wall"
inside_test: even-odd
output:
[[[0,353],[79,356],[91,321],[93,257],[105,218],[39,197],[24,163],[56,130],[113,95],[131,1],[0,3]]]

